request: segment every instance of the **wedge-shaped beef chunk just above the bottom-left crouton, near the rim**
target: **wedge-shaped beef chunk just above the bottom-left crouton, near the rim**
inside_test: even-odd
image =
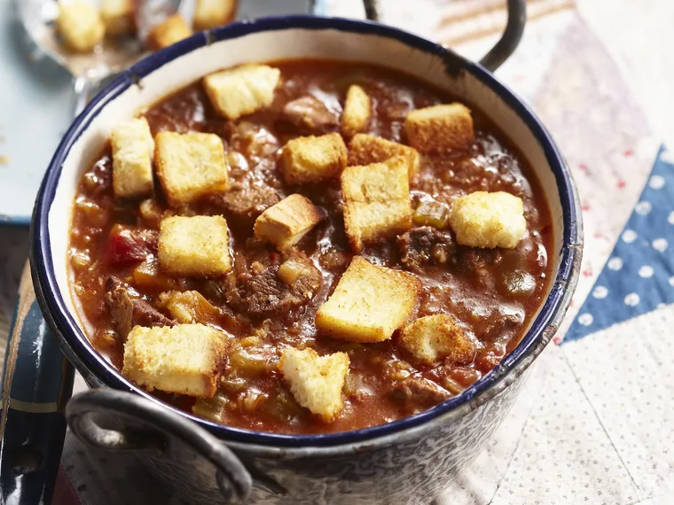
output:
[[[176,322],[161,314],[144,299],[129,294],[129,289],[118,279],[108,279],[106,306],[113,322],[113,328],[123,340],[134,326],[173,326]]]

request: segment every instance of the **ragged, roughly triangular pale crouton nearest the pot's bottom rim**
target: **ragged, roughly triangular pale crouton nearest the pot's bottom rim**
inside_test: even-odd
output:
[[[341,412],[341,388],[349,373],[349,355],[334,353],[318,356],[311,348],[300,351],[286,347],[278,369],[290,385],[297,402],[312,414],[332,421]]]

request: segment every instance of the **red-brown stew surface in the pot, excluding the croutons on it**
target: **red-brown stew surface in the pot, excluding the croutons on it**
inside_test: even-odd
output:
[[[195,82],[143,114],[153,137],[162,131],[219,136],[229,173],[227,190],[169,205],[155,173],[150,194],[119,198],[113,188],[112,146],[82,175],[69,264],[73,298],[92,345],[121,370],[130,326],[170,327],[186,318],[221,330],[226,352],[216,367],[214,395],[197,399],[160,388],[153,394],[197,416],[255,431],[356,430],[410,416],[457,395],[520,342],[545,299],[553,232],[543,191],[526,160],[481,113],[472,111],[473,142],[464,149],[421,152],[419,175],[410,179],[411,229],[366,241],[355,253],[345,231],[339,175],[320,183],[286,183],[279,173],[284,145],[301,136],[343,135],[341,113],[354,84],[371,100],[372,113],[362,132],[400,144],[408,144],[408,113],[453,100],[410,76],[376,66],[313,60],[270,66],[280,70],[280,81],[271,104],[255,113],[236,120],[223,117],[203,82]],[[349,144],[349,136],[344,140]],[[521,198],[526,232],[516,246],[458,244],[450,209],[457,198],[475,191]],[[309,198],[322,219],[290,248],[255,237],[256,218],[295,193]],[[174,215],[223,216],[231,270],[199,277],[162,268],[161,221]],[[457,345],[469,344],[467,351],[424,361],[401,344],[400,326],[391,338],[373,343],[317,330],[318,308],[356,254],[372,265],[416,277],[418,299],[406,323],[450,315],[456,324],[452,328],[464,339]],[[280,356],[289,347],[348,356],[336,416],[317,416],[291,391],[279,370]]]

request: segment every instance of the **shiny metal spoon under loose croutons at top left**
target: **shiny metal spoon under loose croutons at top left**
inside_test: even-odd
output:
[[[184,19],[192,19],[192,4],[181,0],[138,2],[136,37],[106,38],[90,53],[74,53],[59,40],[56,30],[59,16],[57,0],[16,0],[21,24],[35,43],[38,54],[55,61],[73,76],[75,116],[82,112],[91,92],[100,82],[145,55],[145,38],[153,26],[176,12]]]

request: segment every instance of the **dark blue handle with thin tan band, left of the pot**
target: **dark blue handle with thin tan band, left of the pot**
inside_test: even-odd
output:
[[[1,390],[10,383],[10,397],[3,398],[3,404],[9,400],[9,408],[0,440],[0,500],[38,505],[51,501],[66,436],[63,408],[73,390],[74,369],[35,300],[16,327],[18,323],[15,314]],[[16,348],[13,338],[19,339]]]

